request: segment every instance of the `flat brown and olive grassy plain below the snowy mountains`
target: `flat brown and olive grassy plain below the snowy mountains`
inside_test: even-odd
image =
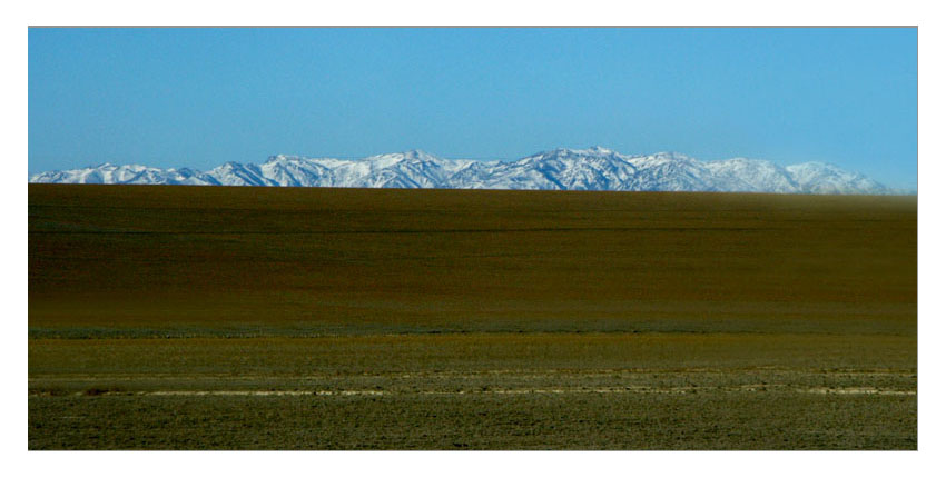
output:
[[[29,186],[30,449],[916,449],[916,197]]]

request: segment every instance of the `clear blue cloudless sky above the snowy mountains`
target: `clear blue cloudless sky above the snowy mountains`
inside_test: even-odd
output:
[[[30,173],[594,145],[915,188],[916,30],[29,30]]]

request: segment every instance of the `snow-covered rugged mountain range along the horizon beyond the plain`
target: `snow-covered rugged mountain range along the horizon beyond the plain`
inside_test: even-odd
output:
[[[505,162],[445,159],[413,150],[355,160],[279,155],[263,165],[227,162],[209,171],[104,163],[41,172],[30,177],[30,182],[824,195],[900,192],[864,175],[820,162],[788,167],[746,158],[704,162],[679,153],[628,156],[601,147],[560,148]]]

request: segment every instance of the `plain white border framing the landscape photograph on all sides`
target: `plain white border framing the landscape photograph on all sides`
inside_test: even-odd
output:
[[[797,476],[920,474],[935,464],[943,445],[938,343],[943,307],[934,275],[944,266],[940,233],[943,178],[943,18],[920,1],[664,1],[617,7],[611,2],[510,0],[461,1],[33,1],[8,6],[2,48],[9,64],[2,76],[3,131],[14,172],[4,187],[3,291],[11,313],[2,360],[8,378],[3,400],[2,449],[7,468],[31,476],[265,476],[274,472],[333,475],[503,475],[589,474]],[[28,452],[27,451],[27,27],[28,26],[919,26],[919,452]],[[926,179],[924,179],[926,178]],[[936,216],[934,216],[936,215]],[[27,468],[28,467],[28,468]],[[942,468],[942,466],[940,466]],[[923,474],[926,475],[926,474]]]

